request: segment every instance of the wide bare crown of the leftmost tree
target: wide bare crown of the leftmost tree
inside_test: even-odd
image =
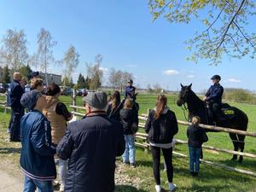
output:
[[[28,54],[24,30],[9,29],[3,37],[2,43],[0,50],[1,66],[8,65],[9,68],[17,70],[20,66],[26,64]]]

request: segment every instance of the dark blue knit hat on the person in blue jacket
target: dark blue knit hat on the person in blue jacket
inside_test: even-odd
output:
[[[38,90],[31,90],[29,92],[26,92],[21,96],[20,104],[24,108],[27,108],[28,110],[32,110],[33,108],[35,108],[38,102],[38,97],[41,95],[42,94],[39,93]]]

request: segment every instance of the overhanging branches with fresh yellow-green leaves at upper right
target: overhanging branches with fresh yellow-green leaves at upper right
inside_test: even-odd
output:
[[[190,61],[218,64],[223,55],[253,58],[256,53],[256,35],[246,31],[248,18],[256,14],[253,0],[148,0],[148,4],[154,20],[160,15],[171,23],[201,20],[205,29],[186,42],[193,51]]]

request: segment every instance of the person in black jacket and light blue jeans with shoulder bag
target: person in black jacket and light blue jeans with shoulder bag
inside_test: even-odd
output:
[[[124,128],[125,134],[125,153],[123,154],[123,162],[135,167],[135,133],[131,129],[132,125],[138,125],[137,112],[132,109],[132,100],[125,99],[124,108],[120,110],[120,120]]]

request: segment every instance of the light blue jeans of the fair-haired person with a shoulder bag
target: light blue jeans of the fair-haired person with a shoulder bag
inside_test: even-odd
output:
[[[133,135],[125,135],[125,153],[123,154],[123,162],[135,163],[135,137]]]

